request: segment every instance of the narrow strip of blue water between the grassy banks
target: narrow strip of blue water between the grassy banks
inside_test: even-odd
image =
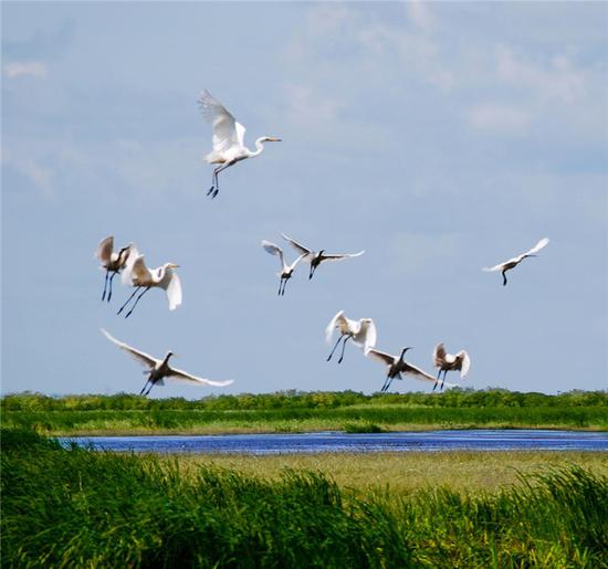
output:
[[[340,432],[60,438],[95,450],[157,453],[311,454],[319,452],[604,451],[607,432],[445,430],[396,433]]]

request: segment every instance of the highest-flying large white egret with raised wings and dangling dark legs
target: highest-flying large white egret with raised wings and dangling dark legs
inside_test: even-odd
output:
[[[211,178],[211,188],[207,196],[214,198],[220,191],[218,175],[231,166],[260,156],[264,149],[264,143],[280,143],[281,139],[273,136],[261,136],[255,140],[255,151],[251,151],[244,146],[245,127],[230,114],[226,107],[207,89],[200,94],[199,105],[208,123],[213,127],[213,150],[211,150],[205,160],[208,164],[218,164],[213,169]]]

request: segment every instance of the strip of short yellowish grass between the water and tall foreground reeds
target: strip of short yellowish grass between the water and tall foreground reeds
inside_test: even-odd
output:
[[[459,493],[495,493],[533,478],[534,473],[578,466],[608,476],[608,455],[591,452],[407,452],[321,453],[284,455],[185,454],[167,459],[184,473],[220,467],[248,476],[279,481],[285,470],[314,471],[331,477],[344,489],[366,494],[388,489],[392,496],[443,487]]]

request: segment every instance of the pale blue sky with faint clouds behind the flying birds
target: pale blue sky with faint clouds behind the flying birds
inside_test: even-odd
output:
[[[325,361],[339,309],[430,372],[467,349],[464,386],[606,389],[607,32],[602,2],[3,2],[2,392],[138,392],[99,327],[234,379],[157,397],[378,390],[353,346]],[[283,139],[213,201],[202,88]],[[277,298],[280,231],[366,253]],[[108,234],[178,263],[184,305],[102,304]],[[481,272],[545,235],[506,287]]]

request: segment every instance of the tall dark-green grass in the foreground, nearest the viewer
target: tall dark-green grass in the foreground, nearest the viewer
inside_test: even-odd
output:
[[[579,466],[496,493],[392,495],[318,472],[63,450],[2,432],[7,567],[608,566],[608,478]]]

